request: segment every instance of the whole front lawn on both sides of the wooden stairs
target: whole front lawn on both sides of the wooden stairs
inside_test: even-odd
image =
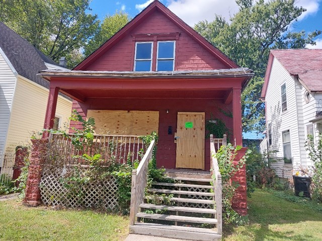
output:
[[[322,240],[322,208],[290,202],[277,194],[283,196],[256,190],[249,199],[250,223],[225,228],[223,240]],[[127,217],[94,211],[0,202],[0,240],[124,240],[128,223]]]

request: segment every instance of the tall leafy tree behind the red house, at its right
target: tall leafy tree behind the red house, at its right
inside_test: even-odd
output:
[[[242,94],[244,132],[265,128],[265,105],[260,100],[270,49],[305,48],[315,44],[320,31],[306,34],[289,32],[294,21],[306,10],[296,0],[236,0],[239,12],[227,22],[216,15],[202,21],[195,30],[238,65],[254,70],[255,76]]]

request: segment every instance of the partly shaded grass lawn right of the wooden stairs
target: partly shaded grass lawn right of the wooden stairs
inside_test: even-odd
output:
[[[320,208],[289,202],[259,189],[249,198],[248,205],[250,224],[226,228],[223,240],[322,240]]]

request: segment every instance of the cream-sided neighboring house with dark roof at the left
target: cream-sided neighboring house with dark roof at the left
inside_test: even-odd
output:
[[[27,145],[41,131],[47,107],[49,82],[41,70],[61,68],[25,39],[0,22],[0,168],[12,162],[17,146]],[[56,128],[68,121],[71,99],[59,96]],[[4,161],[4,157],[11,160]]]

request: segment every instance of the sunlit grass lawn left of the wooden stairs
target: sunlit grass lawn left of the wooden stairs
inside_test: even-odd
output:
[[[90,210],[28,208],[0,202],[0,240],[124,240],[129,220]]]

